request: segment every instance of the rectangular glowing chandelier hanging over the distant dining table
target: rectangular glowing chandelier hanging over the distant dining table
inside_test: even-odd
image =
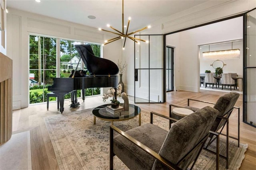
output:
[[[228,50],[220,50],[220,51],[209,51],[203,52],[204,59],[237,59],[240,58],[240,49],[233,49],[233,42],[232,42],[232,49]]]

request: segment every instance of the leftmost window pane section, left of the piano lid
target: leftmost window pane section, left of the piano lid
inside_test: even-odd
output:
[[[29,99],[31,103],[46,101],[48,85],[56,77],[56,38],[30,36]]]

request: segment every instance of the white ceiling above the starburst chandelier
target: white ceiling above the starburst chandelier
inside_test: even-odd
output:
[[[124,25],[131,17],[129,31],[186,10],[208,0],[124,0]],[[7,0],[7,8],[16,8],[95,28],[107,30],[110,24],[122,29],[122,0]],[[88,16],[96,19],[89,19]]]

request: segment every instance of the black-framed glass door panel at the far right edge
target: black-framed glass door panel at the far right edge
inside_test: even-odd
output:
[[[256,8],[244,14],[243,122],[256,127]]]

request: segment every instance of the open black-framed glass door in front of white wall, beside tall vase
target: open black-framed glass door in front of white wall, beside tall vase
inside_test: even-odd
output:
[[[134,43],[134,102],[163,103],[166,98],[163,35],[135,35],[149,43]]]

